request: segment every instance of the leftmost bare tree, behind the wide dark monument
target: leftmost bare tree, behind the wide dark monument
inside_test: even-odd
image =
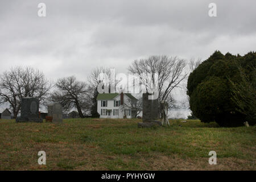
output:
[[[44,104],[51,86],[52,84],[38,69],[12,68],[0,76],[0,104],[9,103],[16,118],[22,98],[35,97],[40,104]]]

